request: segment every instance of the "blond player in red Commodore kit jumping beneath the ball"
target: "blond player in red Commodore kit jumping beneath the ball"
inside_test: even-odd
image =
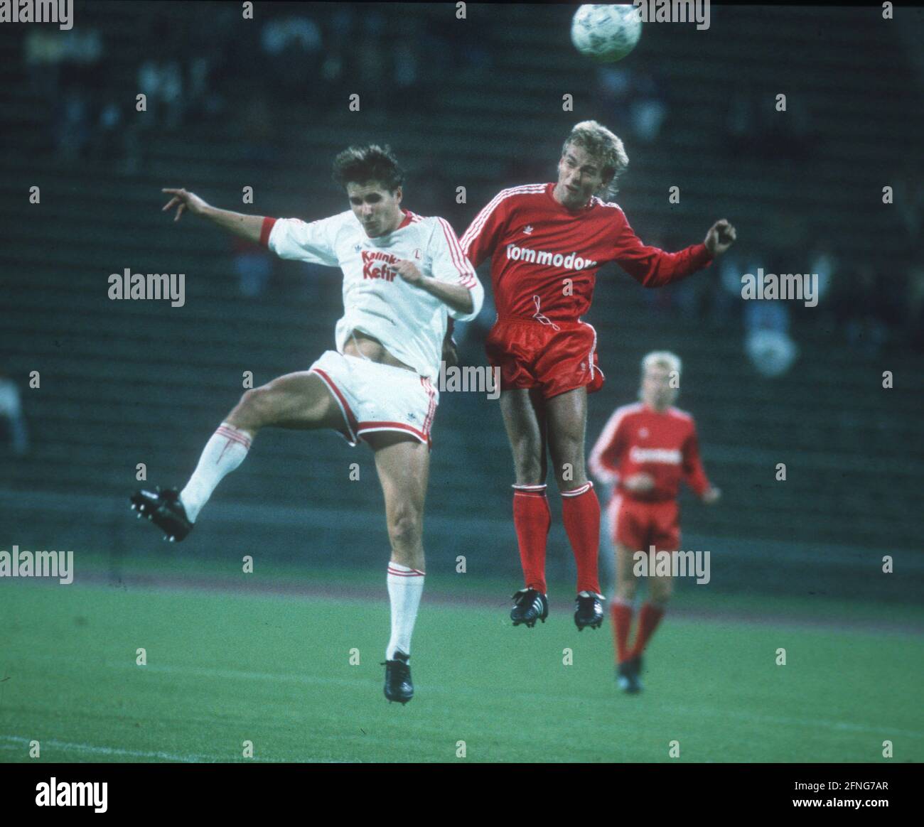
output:
[[[587,395],[603,373],[597,333],[580,316],[590,308],[597,271],[618,263],[646,287],[671,284],[707,266],[735,240],[724,219],[701,244],[679,252],[644,245],[613,191],[628,164],[623,143],[596,121],[565,140],[553,183],[504,189],[462,237],[475,267],[491,260],[497,320],[486,350],[501,374],[501,412],[514,455],[514,526],[524,588],[514,595],[514,626],[545,621],[546,452],[562,494],[565,530],[577,563],[575,624],[598,628],[602,595],[597,570],[600,503],[587,479]]]

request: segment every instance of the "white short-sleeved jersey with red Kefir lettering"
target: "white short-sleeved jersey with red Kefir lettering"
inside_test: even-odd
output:
[[[306,224],[298,218],[266,219],[261,240],[284,259],[340,267],[344,274],[344,315],[336,326],[336,347],[344,352],[351,331],[378,339],[395,359],[421,376],[435,379],[443,358],[447,316],[474,319],[484,288],[442,218],[404,211],[404,221],[386,236],[370,238],[352,210]],[[420,273],[466,287],[472,310],[451,310],[439,298],[386,269],[413,261]]]

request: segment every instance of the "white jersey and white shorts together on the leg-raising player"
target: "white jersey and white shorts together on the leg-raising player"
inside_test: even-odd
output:
[[[310,370],[322,377],[340,404],[351,444],[370,432],[401,431],[430,443],[439,393],[447,314],[459,321],[480,310],[483,288],[442,218],[403,211],[400,225],[382,237],[369,237],[352,210],[306,224],[297,218],[266,218],[261,241],[284,259],[339,266],[344,272],[344,313],[337,322],[336,351],[327,351]],[[395,271],[411,261],[425,275],[478,293],[472,312],[447,308],[438,298]],[[344,355],[356,332],[381,342],[410,371]]]

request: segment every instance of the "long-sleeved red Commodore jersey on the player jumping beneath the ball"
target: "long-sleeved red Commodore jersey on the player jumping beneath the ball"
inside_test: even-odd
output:
[[[712,260],[704,244],[675,253],[646,247],[617,204],[594,196],[571,212],[555,201],[554,187],[528,184],[501,190],[461,238],[475,267],[492,257],[499,319],[576,321],[590,308],[597,271],[608,261],[643,286],[660,287]]]

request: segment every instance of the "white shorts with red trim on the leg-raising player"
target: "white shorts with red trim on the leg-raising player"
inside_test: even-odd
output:
[[[309,371],[334,394],[346,421],[341,433],[349,444],[357,444],[364,433],[400,431],[431,445],[440,394],[426,377],[335,350],[325,351]]]

